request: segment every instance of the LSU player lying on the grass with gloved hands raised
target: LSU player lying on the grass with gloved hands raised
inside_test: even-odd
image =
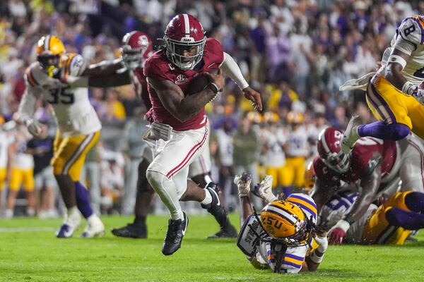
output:
[[[266,206],[258,215],[249,200],[250,181],[247,173],[234,178],[242,209],[237,246],[249,262],[257,269],[271,269],[281,274],[317,270],[328,241],[325,233],[316,230],[314,200],[302,193],[278,200],[271,191],[272,177],[265,176],[258,190]],[[317,247],[312,250],[313,243]]]

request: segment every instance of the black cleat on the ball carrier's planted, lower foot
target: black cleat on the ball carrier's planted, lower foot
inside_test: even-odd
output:
[[[182,213],[184,214],[184,220],[170,219],[168,221],[168,230],[162,247],[163,255],[172,255],[181,247],[182,238],[189,225],[189,218],[185,212]]]

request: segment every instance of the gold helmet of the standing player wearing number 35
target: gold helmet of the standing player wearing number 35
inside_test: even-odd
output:
[[[43,70],[52,77],[59,72],[61,55],[66,52],[64,44],[54,35],[46,35],[37,42],[37,61]]]

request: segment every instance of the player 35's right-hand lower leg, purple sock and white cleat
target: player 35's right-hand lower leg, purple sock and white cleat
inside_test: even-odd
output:
[[[85,188],[79,181],[76,181],[75,188],[76,206],[87,220],[87,227],[84,229],[81,237],[92,238],[105,234],[105,226],[91,208],[90,194],[87,188]]]

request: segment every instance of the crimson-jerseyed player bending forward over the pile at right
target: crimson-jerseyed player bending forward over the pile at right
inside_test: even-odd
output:
[[[316,182],[312,198],[317,202],[318,212],[342,182],[358,189],[352,208],[329,231],[329,242],[334,244],[343,243],[352,224],[365,214],[379,192],[391,186],[392,181],[399,182],[398,177],[402,180],[402,192],[424,192],[421,166],[424,148],[418,137],[413,135],[397,142],[362,137],[350,154],[343,154],[342,136],[343,133],[335,128],[323,130],[317,142],[319,157],[313,163]]]

